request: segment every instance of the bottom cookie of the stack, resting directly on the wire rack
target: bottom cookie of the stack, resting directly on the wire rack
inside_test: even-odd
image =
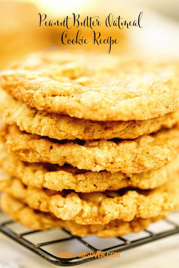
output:
[[[140,232],[152,222],[165,216],[151,219],[134,219],[131,222],[113,220],[106,225],[80,225],[74,221],[62,221],[53,214],[35,211],[24,205],[10,195],[3,194],[0,197],[1,209],[9,214],[15,221],[34,230],[46,230],[50,228],[69,228],[72,235],[90,236],[97,235],[101,238],[123,236],[130,232]]]

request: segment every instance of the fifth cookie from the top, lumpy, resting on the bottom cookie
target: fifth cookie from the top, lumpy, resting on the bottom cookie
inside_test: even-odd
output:
[[[179,174],[155,190],[124,188],[120,191],[75,193],[25,186],[10,178],[0,182],[0,190],[27,204],[30,208],[53,213],[62,220],[78,224],[108,224],[111,220],[126,222],[136,218],[154,218],[179,209]]]

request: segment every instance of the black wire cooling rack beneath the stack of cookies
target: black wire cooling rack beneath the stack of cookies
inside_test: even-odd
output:
[[[176,216],[179,212],[176,212]],[[122,252],[167,236],[179,233],[177,222],[169,219],[151,224],[146,230],[131,233],[123,237],[98,238],[96,236],[73,236],[66,229],[52,229],[47,231],[34,231],[3,218],[0,212],[0,231],[9,236],[27,249],[41,256],[44,260],[58,266],[73,266],[97,259],[92,253]],[[172,218],[173,219],[173,218]],[[175,219],[175,217],[174,217]],[[60,252],[71,252],[73,257],[60,258]],[[80,257],[79,252],[86,252],[87,256]],[[109,254],[109,253],[108,253]]]

